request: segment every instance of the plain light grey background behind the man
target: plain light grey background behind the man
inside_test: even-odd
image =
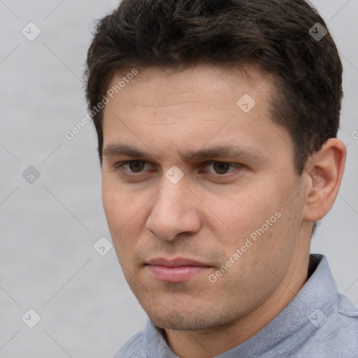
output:
[[[116,3],[0,0],[0,358],[113,357],[145,323],[114,250],[93,248],[110,235],[92,123],[64,136],[87,114],[81,79],[93,20]],[[339,138],[348,162],[312,251],[327,255],[338,289],[358,303],[358,1],[313,4],[345,69]],[[29,22],[41,29],[32,42],[22,34]],[[29,166],[41,173],[33,184],[22,177]],[[22,322],[29,308],[41,315],[33,329]]]

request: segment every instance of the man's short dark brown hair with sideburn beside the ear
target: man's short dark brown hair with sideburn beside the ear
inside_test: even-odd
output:
[[[101,163],[103,110],[93,108],[118,71],[254,64],[272,75],[272,120],[289,131],[301,174],[308,157],[336,137],[343,96],[336,45],[329,32],[317,39],[310,29],[327,25],[304,0],[122,0],[96,24],[87,53]]]

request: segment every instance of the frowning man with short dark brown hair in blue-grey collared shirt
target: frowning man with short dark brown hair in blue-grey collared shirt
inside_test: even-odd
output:
[[[115,357],[358,357],[315,223],[342,65],[303,0],[123,0],[87,56],[103,207],[148,314]]]

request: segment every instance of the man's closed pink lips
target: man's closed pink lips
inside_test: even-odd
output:
[[[200,275],[212,268],[208,264],[181,257],[176,259],[158,257],[151,259],[145,266],[148,267],[150,273],[157,280],[164,282],[189,281],[194,276]]]

